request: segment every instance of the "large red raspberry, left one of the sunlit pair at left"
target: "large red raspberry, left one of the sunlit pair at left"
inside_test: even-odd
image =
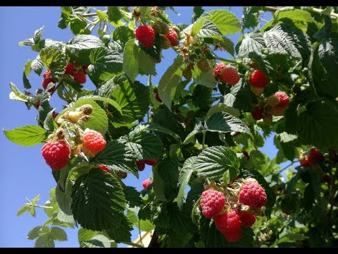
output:
[[[70,149],[64,140],[49,141],[42,146],[42,156],[51,169],[59,170],[69,161]]]

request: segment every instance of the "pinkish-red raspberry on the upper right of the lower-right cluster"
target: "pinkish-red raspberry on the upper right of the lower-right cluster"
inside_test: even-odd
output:
[[[246,181],[242,191],[239,192],[239,202],[253,209],[259,209],[266,204],[266,193],[259,183]]]

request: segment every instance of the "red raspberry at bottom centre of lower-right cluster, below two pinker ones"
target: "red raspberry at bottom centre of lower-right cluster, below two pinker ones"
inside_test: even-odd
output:
[[[215,221],[216,228],[223,234],[238,231],[242,226],[241,218],[234,210],[215,216],[213,219]]]

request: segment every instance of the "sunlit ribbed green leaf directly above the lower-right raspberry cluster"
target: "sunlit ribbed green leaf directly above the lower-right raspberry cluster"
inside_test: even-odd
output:
[[[229,147],[208,147],[197,156],[192,167],[198,176],[206,176],[208,179],[220,181],[225,171],[230,171],[230,179],[239,174],[240,162],[236,152]]]

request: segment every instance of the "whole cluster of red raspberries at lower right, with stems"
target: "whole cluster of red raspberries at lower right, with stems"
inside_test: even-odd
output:
[[[213,219],[216,229],[227,241],[239,241],[242,226],[252,226],[256,221],[255,214],[261,214],[267,202],[263,187],[250,178],[236,179],[225,189],[215,185],[207,188],[201,195],[202,214]]]

